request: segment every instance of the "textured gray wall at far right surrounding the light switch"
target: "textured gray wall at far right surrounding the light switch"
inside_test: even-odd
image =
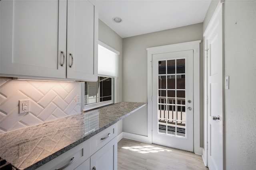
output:
[[[255,0],[225,1],[224,71],[225,76],[230,76],[230,89],[225,90],[224,100],[227,170],[256,167],[255,28]]]

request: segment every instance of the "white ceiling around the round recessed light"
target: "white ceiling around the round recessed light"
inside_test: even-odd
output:
[[[120,37],[132,37],[204,21],[211,0],[97,0],[99,19]],[[112,18],[122,18],[114,23]]]

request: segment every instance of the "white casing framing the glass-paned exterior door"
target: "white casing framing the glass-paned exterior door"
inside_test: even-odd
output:
[[[148,52],[148,143],[152,143],[152,56],[160,53],[194,50],[194,153],[201,155],[200,147],[200,43],[190,41],[172,45],[147,48]]]

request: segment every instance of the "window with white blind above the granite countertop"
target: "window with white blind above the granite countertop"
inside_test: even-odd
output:
[[[119,52],[99,41],[98,81],[84,83],[85,110],[114,103]]]

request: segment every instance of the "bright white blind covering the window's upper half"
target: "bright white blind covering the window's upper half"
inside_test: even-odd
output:
[[[118,54],[98,45],[98,74],[118,76]]]

